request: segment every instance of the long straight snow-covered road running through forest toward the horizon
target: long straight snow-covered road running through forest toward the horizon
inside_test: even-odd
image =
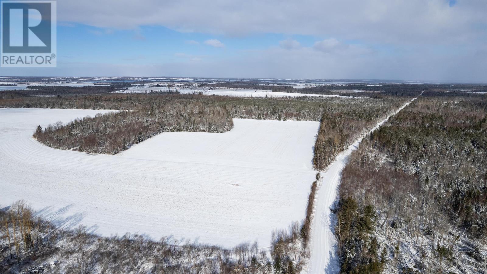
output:
[[[390,117],[396,115],[415,99],[416,98],[412,99],[393,114],[378,122],[368,133],[378,129]],[[315,198],[315,212],[313,225],[311,227],[311,258],[309,262],[309,274],[333,274],[339,272],[337,240],[333,233],[336,220],[335,215],[332,214],[330,208],[337,199],[340,174],[347,164],[347,158],[358,148],[363,137],[365,137],[365,135],[349,146],[345,152],[338,155],[337,159],[328,167],[328,169],[324,173],[321,173],[323,179]]]

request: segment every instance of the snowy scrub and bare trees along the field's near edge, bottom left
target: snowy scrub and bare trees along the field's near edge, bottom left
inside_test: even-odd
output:
[[[257,242],[224,249],[171,236],[105,237],[84,226],[60,225],[66,220],[45,218],[25,201],[0,209],[0,272],[298,274],[307,255],[298,222],[272,232],[268,253]]]

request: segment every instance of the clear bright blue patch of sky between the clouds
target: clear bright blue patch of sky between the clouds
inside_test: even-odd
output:
[[[205,44],[217,39],[223,47]],[[203,33],[182,33],[164,26],[143,26],[137,30],[112,30],[81,24],[58,27],[57,51],[72,62],[97,60],[113,64],[172,62],[180,59],[225,59],[275,46],[285,39],[280,34],[225,37]],[[311,38],[307,38],[311,39]],[[87,47],[90,50],[86,50]],[[187,55],[187,57],[183,56]],[[143,61],[142,61],[143,60]]]

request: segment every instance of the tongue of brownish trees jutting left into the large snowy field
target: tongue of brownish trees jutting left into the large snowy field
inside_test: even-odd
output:
[[[158,107],[77,118],[45,129],[38,126],[34,137],[57,149],[116,154],[162,132],[225,132],[232,128],[225,108],[174,100]]]

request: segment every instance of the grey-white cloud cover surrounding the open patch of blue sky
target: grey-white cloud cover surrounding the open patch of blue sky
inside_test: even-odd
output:
[[[10,75],[487,81],[486,0],[459,0],[452,7],[448,0],[62,0],[57,7],[59,21],[99,27],[94,35],[161,25],[233,38],[277,33],[324,40],[303,46],[286,39],[242,57],[175,56],[172,63],[138,66],[59,63],[57,69],[11,69]],[[216,39],[202,41],[186,42],[224,47]]]

